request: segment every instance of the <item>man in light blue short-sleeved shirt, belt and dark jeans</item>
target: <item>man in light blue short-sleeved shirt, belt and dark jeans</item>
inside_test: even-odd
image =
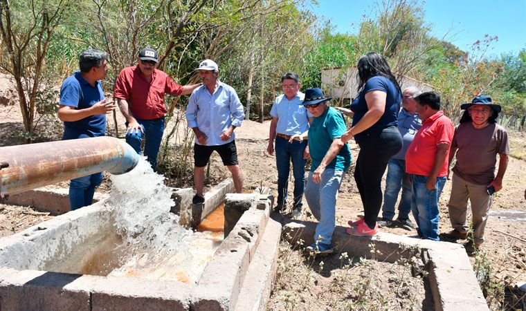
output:
[[[302,196],[305,187],[305,159],[309,158],[307,141],[293,140],[292,135],[305,133],[309,129],[312,115],[302,105],[305,94],[300,92],[300,79],[296,73],[285,73],[281,77],[282,95],[276,97],[271,109],[271,129],[269,131],[269,147],[272,155],[275,150],[275,162],[278,169],[278,202],[275,211],[287,211],[287,192],[289,173],[292,161],[294,176],[294,205],[292,216],[302,215]],[[274,148],[275,140],[275,148]]]

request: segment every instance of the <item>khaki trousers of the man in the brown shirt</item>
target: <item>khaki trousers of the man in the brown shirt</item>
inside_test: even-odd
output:
[[[466,182],[455,173],[453,173],[452,181],[451,196],[448,203],[451,226],[458,232],[468,232],[466,211],[469,198],[471,214],[473,214],[473,241],[476,245],[480,245],[484,242],[484,228],[493,198],[487,194],[486,185]]]

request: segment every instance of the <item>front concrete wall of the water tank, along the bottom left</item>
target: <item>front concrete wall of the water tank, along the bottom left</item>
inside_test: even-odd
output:
[[[0,310],[189,310],[194,285],[0,267]]]

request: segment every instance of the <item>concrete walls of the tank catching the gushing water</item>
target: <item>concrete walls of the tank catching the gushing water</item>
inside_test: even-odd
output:
[[[102,197],[89,207],[0,238],[0,310],[265,310],[282,226],[269,217],[271,197],[231,191],[232,180],[221,182],[206,193],[203,205],[194,206],[192,189],[173,189],[174,211],[186,215],[181,221],[188,226],[226,200],[230,227],[196,283],[76,272],[83,260],[100,256],[100,245],[117,238]],[[40,209],[60,214],[63,208]],[[78,252],[80,245],[91,252]],[[75,267],[69,266],[72,258]]]

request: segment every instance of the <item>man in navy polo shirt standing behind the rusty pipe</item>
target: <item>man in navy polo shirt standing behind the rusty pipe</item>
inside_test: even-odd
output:
[[[114,111],[114,102],[107,102],[102,83],[108,70],[107,54],[100,50],[84,50],[79,55],[79,68],[60,87],[58,117],[64,122],[62,140],[104,136],[106,115]],[[102,172],[75,178],[69,184],[71,210],[91,205],[95,188],[102,182]]]

